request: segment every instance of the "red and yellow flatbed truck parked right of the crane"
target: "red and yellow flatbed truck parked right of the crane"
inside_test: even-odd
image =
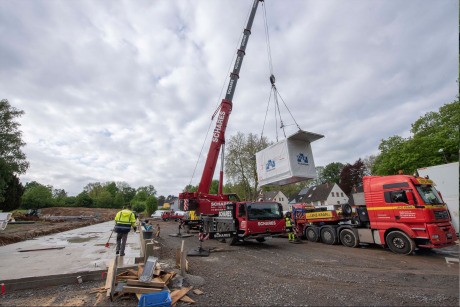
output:
[[[406,175],[367,176],[363,190],[354,194],[353,207],[294,209],[297,234],[312,242],[340,242],[348,247],[381,244],[406,255],[416,247],[456,244],[449,211],[432,180]]]

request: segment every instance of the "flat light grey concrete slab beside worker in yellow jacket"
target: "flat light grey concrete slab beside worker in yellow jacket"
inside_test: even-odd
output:
[[[106,270],[115,257],[116,233],[110,239],[110,247],[105,247],[113,226],[110,221],[2,246],[0,280]],[[19,252],[62,246],[65,248]],[[120,257],[118,267],[133,266],[139,252],[139,234],[130,232],[126,255]]]

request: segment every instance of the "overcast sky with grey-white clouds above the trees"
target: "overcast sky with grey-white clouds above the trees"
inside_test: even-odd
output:
[[[409,136],[411,123],[458,93],[456,0],[265,3],[278,90],[302,129],[325,135],[313,143],[316,165],[377,154],[381,139]],[[31,167],[21,180],[69,195],[95,181],[178,194],[191,180],[251,5],[0,1],[0,98],[25,111]],[[259,6],[227,138],[262,131],[266,50]],[[264,134],[274,140],[270,114]]]

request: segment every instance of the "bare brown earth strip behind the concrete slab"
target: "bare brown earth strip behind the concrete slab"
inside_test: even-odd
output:
[[[33,239],[37,236],[49,235],[80,228],[95,223],[109,221],[115,217],[119,209],[68,208],[53,207],[42,209],[42,216],[34,224],[8,224],[0,231],[0,245],[12,244]],[[45,220],[46,216],[94,216],[92,219],[77,220]],[[18,219],[19,221],[20,219]]]

